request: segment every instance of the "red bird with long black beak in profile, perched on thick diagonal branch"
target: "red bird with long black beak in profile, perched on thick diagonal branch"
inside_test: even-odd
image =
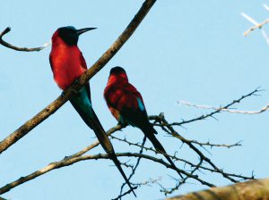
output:
[[[84,71],[87,71],[87,64],[80,51],[78,44],[79,36],[89,30],[96,28],[75,29],[72,26],[56,29],[52,36],[52,47],[49,54],[49,63],[53,72],[54,79],[58,87],[65,91],[74,81],[76,81]],[[100,145],[108,154],[117,166],[118,171],[130,187],[134,196],[134,188],[126,178],[125,172],[117,160],[114,148],[106,134],[106,131],[101,126],[101,123],[92,109],[91,90],[89,82],[79,91],[75,91],[74,96],[70,98],[71,104],[76,112],[79,113],[82,120],[93,129],[96,137],[100,141]]]

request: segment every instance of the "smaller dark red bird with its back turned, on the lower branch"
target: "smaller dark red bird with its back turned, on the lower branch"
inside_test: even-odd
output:
[[[163,154],[174,170],[178,169],[175,163],[166,154],[161,142],[155,137],[157,131],[148,119],[143,97],[137,89],[128,81],[126,71],[122,67],[114,67],[110,70],[108,83],[104,89],[104,98],[108,109],[121,125],[131,125],[143,131],[145,137],[150,139],[156,151]],[[178,170],[176,170],[178,171]],[[183,179],[180,172],[179,176]]]

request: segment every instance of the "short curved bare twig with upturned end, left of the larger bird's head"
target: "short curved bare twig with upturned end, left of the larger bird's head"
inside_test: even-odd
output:
[[[41,51],[42,49],[44,49],[45,47],[49,46],[50,43],[45,43],[43,46],[40,46],[40,47],[34,47],[34,48],[27,48],[27,47],[18,47],[18,46],[13,46],[7,42],[5,42],[3,40],[3,37],[5,34],[7,34],[9,31],[11,31],[11,28],[10,27],[7,27],[4,29],[4,31],[2,33],[0,33],[0,44],[2,46],[5,46],[7,48],[11,48],[13,50],[16,50],[16,51],[21,51],[21,52],[39,52]]]

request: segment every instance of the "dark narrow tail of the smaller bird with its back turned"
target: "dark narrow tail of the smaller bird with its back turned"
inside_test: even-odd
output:
[[[146,128],[143,128],[142,130],[143,130],[144,135],[151,140],[152,145],[154,146],[154,148],[157,151],[161,152],[166,157],[166,159],[169,161],[172,168],[178,172],[178,168],[176,167],[175,163],[170,159],[170,157],[166,153],[164,147],[161,145],[161,142],[159,142],[157,137],[155,137],[154,134],[156,134],[157,131],[152,127],[152,124],[149,123],[149,125]],[[180,172],[178,172],[178,175],[181,177],[181,179],[183,179],[183,176],[181,175]]]

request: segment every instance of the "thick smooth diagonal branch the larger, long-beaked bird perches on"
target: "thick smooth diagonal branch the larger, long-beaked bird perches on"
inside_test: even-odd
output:
[[[88,71],[85,71],[78,81],[75,81],[71,87],[65,90],[65,94],[58,96],[54,102],[48,104],[46,108],[36,114],[32,119],[26,121],[19,129],[16,129],[11,135],[5,137],[3,141],[0,142],[0,154],[4,152],[9,146],[12,146],[19,139],[24,137],[34,129],[42,121],[45,121],[51,114],[56,112],[63,104],[65,104],[68,99],[74,95],[74,91],[80,89],[85,85],[89,79],[91,79],[96,73],[98,73],[109,60],[117,54],[117,51],[126,43],[129,37],[132,36],[134,30],[143,21],[145,15],[150,11],[152,5],[156,0],[145,0],[140,10],[134,16],[134,19],[128,24],[124,32],[117,37],[117,40],[108,48],[108,50],[102,54],[100,59],[94,63]]]

